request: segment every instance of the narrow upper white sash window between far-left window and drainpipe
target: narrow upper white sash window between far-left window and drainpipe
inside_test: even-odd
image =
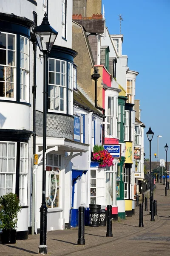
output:
[[[20,36],[20,99],[28,101],[29,40]]]

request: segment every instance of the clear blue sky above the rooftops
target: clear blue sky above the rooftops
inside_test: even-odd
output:
[[[102,0],[106,26],[110,34],[119,34],[119,14],[122,14],[121,34],[124,35],[122,54],[128,56],[130,70],[139,72],[136,97],[140,100],[141,121],[144,122],[144,152],[149,158],[146,132],[154,132],[152,161],[157,153],[170,161],[170,0]]]

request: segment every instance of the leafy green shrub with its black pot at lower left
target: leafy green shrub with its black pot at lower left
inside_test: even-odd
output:
[[[0,197],[0,230],[3,244],[16,243],[16,227],[20,200],[16,194],[8,193]]]

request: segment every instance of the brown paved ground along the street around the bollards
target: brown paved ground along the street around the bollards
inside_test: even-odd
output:
[[[170,181],[170,180],[169,180]],[[170,190],[165,197],[165,186],[156,183],[157,200],[155,221],[144,211],[144,227],[139,227],[139,207],[126,220],[112,222],[113,237],[106,237],[106,227],[85,227],[85,245],[77,245],[78,228],[47,233],[50,256],[167,256],[170,255]],[[139,204],[141,201],[139,201]],[[16,244],[0,244],[0,256],[38,255],[40,235],[29,235]]]

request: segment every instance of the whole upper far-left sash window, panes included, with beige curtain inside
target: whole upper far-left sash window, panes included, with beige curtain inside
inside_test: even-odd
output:
[[[0,97],[14,99],[16,76],[16,35],[0,33]]]

